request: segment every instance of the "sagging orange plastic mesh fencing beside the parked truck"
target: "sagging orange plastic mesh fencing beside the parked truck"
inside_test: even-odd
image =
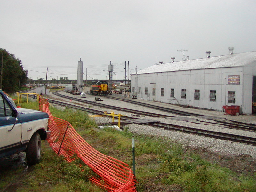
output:
[[[39,106],[49,114],[48,126],[52,134],[48,142],[58,155],[63,155],[68,162],[78,156],[100,176],[100,179],[90,180],[108,191],[136,192],[136,180],[129,165],[92,148],[69,122],[51,115],[47,100],[39,99]]]

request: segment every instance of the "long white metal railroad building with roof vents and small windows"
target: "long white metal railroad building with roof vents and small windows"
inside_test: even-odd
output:
[[[131,74],[131,92],[144,100],[223,111],[256,102],[256,51],[153,65]],[[131,94],[132,95],[132,94]]]

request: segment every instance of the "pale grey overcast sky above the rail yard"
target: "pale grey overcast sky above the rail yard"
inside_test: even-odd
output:
[[[22,61],[28,77],[124,79],[156,62],[256,51],[255,0],[2,0],[0,48]],[[127,65],[128,69],[128,65]],[[128,75],[128,71],[127,71]],[[128,77],[127,77],[128,78]],[[83,76],[86,79],[86,76]]]

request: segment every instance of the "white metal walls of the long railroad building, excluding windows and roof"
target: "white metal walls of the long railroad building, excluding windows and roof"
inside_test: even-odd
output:
[[[240,75],[239,85],[228,85],[228,75]],[[138,87],[140,87],[140,94],[138,97],[144,100],[154,100],[164,103],[188,105],[198,108],[207,108],[214,110],[223,110],[223,105],[239,105],[242,113],[251,113],[251,107],[246,100],[252,100],[252,75],[246,78],[246,89],[243,93],[243,68],[215,68],[215,69],[198,69],[188,71],[176,72],[162,72],[141,74],[138,76]],[[132,86],[136,75],[132,75]],[[136,78],[135,78],[136,79]],[[248,79],[248,80],[247,80]],[[148,95],[145,95],[145,87],[148,87]],[[152,95],[152,88],[156,88],[156,95]],[[251,87],[251,88],[250,88]],[[164,88],[164,97],[161,96],[161,88]],[[174,96],[170,97],[170,89],[174,88]],[[181,98],[181,89],[186,89],[186,99]],[[200,99],[195,100],[195,89],[200,90]],[[210,101],[210,90],[216,91],[216,101]],[[136,88],[135,88],[136,91]],[[228,91],[235,91],[235,103],[228,103]],[[246,91],[246,92],[245,92]],[[245,95],[246,99],[242,102]],[[245,110],[244,108],[249,108]]]

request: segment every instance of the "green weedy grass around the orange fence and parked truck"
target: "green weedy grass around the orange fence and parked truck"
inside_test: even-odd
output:
[[[23,107],[38,109],[37,103]],[[117,158],[132,168],[132,133],[128,127],[120,132],[112,128],[95,129],[86,112],[70,108],[50,108],[52,115],[69,121],[93,148]],[[184,148],[164,137],[135,136],[136,187],[139,192],[176,189],[184,192],[252,192],[256,191],[256,175],[237,175],[227,168],[185,152]],[[81,165],[78,166],[78,165]],[[81,171],[83,170],[83,171]],[[22,175],[22,177],[20,177]],[[13,181],[20,181],[17,191],[104,191],[88,181],[95,173],[79,159],[67,163],[43,142],[43,156],[33,170],[24,173],[23,165],[0,173],[0,190]],[[146,187],[145,187],[146,186]],[[167,190],[166,190],[167,191]]]

